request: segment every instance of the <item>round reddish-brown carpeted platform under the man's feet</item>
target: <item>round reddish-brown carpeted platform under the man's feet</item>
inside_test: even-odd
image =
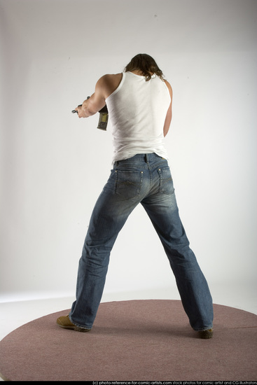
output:
[[[214,304],[214,337],[198,339],[178,300],[99,306],[88,333],[60,328],[58,311],[0,342],[1,377],[16,381],[254,381],[257,316]]]

